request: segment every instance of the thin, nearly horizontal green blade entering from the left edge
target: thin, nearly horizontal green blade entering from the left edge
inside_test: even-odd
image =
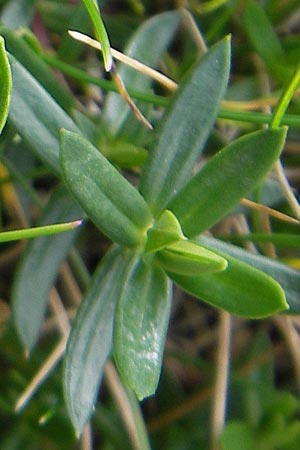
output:
[[[41,236],[52,236],[53,234],[65,233],[81,225],[81,220],[41,227],[24,228],[23,230],[2,231],[0,242],[19,241],[20,239],[33,239]]]

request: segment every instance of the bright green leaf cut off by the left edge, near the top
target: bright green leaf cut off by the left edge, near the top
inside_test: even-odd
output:
[[[11,72],[5,51],[4,39],[0,36],[0,134],[6,123],[11,94]]]

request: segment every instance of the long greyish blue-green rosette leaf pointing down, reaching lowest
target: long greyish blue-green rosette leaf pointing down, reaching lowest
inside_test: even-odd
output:
[[[71,421],[81,434],[90,418],[111,352],[114,312],[130,252],[113,248],[100,263],[72,326],[64,364],[64,392]]]

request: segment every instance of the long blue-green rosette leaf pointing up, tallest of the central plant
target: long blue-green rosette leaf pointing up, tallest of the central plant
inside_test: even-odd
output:
[[[155,217],[191,176],[225,94],[229,65],[226,38],[200,58],[167,108],[140,182]]]

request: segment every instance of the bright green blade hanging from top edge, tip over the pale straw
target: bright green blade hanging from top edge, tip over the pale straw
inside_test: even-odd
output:
[[[107,36],[107,32],[105,29],[105,25],[102,21],[100,10],[96,0],[82,0],[89,15],[92,19],[92,22],[95,27],[95,33],[98,41],[102,47],[103,59],[104,59],[104,67],[107,72],[110,71],[113,59],[110,50],[110,42]]]

